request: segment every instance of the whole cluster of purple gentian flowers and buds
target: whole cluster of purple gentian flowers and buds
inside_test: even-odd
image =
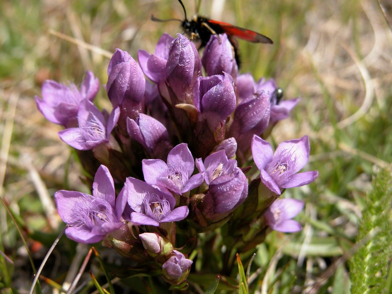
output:
[[[240,74],[226,35],[212,35],[201,58],[181,34],[164,34],[153,54],[139,51],[138,62],[117,49],[107,73],[110,114],[93,103],[99,82],[91,72],[80,90],[47,81],[36,97],[94,177],[92,195],[54,195],[70,239],[102,241],[180,289],[197,271],[188,256],[202,250],[199,233],[221,228],[227,252],[245,252],[271,230],[301,229],[291,219],[303,202],[280,196],[318,176],[298,173],[309,139],[275,152],[264,140],[298,98],[281,100],[272,79]],[[222,273],[232,260],[222,262]]]

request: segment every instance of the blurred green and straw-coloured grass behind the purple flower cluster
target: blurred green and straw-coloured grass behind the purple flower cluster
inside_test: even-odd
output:
[[[371,205],[366,201],[371,178],[392,161],[390,27],[379,3],[371,0],[233,0],[222,1],[221,11],[212,10],[218,2],[202,1],[200,14],[259,31],[274,41],[273,46],[241,42],[242,72],[256,79],[273,77],[286,98],[301,97],[272,139],[309,135],[312,156],[307,168],[319,170],[315,183],[287,191],[286,196],[306,201],[299,218],[304,230],[288,240],[271,234],[259,246],[257,289],[268,283],[274,293],[347,293],[355,263],[348,267],[346,261],[370,239],[365,235],[354,245],[361,212]],[[196,4],[184,4],[189,18]],[[136,57],[138,49],[152,52],[161,33],[181,32],[176,22],[151,22],[151,13],[162,19],[183,18],[176,0],[0,2],[0,196],[22,228],[36,266],[62,227],[53,211],[53,193],[88,188],[78,178],[80,169],[70,148],[57,136],[60,127],[42,117],[33,97],[41,95],[45,79],[78,84],[86,70],[104,84],[109,62],[98,50],[51,31],[109,52],[128,50]],[[103,88],[98,104],[109,105]],[[391,177],[391,172],[386,174]],[[387,188],[382,191],[390,191]],[[386,199],[382,211],[390,221],[391,198]],[[1,293],[25,293],[33,278],[31,266],[21,233],[3,206],[0,226],[0,251],[13,261],[0,255]],[[44,275],[62,282],[74,246],[62,240]],[[386,247],[391,250],[391,243]]]

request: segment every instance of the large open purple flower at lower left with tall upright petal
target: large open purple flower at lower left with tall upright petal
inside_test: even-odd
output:
[[[58,214],[69,225],[65,233],[76,242],[96,243],[123,225],[123,211],[115,206],[113,177],[103,165],[95,174],[92,196],[60,190],[54,198]]]

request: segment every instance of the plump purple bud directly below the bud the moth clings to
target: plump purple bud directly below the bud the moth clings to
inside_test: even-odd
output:
[[[194,103],[200,113],[215,113],[221,120],[226,120],[236,107],[231,75],[224,73],[199,77],[195,84]]]

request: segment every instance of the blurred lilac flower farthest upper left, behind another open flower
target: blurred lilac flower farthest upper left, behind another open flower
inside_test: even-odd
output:
[[[52,80],[45,81],[42,85],[42,99],[35,96],[35,102],[47,120],[71,127],[77,123],[76,115],[80,102],[84,99],[93,101],[98,90],[98,78],[87,72],[80,91],[73,84],[67,87]]]

